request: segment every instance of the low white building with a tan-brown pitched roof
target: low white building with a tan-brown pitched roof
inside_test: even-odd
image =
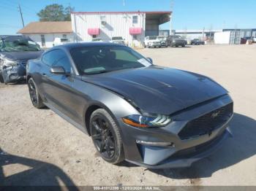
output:
[[[56,38],[73,41],[70,21],[33,22],[20,29],[18,34],[29,36],[40,47],[53,47]]]

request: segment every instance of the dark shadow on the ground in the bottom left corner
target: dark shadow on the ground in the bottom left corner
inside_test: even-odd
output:
[[[4,165],[22,165],[27,170],[17,172],[20,169],[13,169],[15,174],[6,172],[4,174]],[[61,185],[60,185],[61,182]],[[78,190],[72,179],[56,165],[45,163],[26,157],[10,155],[0,148],[0,185],[1,186],[54,186],[54,190]]]

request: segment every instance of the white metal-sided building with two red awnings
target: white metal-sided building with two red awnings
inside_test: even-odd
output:
[[[93,38],[110,41],[122,36],[132,46],[145,36],[158,35],[159,25],[170,20],[171,12],[72,12],[72,30],[76,42]]]

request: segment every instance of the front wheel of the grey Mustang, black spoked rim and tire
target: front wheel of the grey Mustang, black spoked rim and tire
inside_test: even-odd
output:
[[[121,134],[111,115],[105,109],[91,114],[90,133],[94,146],[108,163],[117,164],[124,160]]]

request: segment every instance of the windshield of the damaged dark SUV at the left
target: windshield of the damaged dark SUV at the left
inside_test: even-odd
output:
[[[4,39],[0,47],[3,52],[39,51],[39,46],[30,39]]]

